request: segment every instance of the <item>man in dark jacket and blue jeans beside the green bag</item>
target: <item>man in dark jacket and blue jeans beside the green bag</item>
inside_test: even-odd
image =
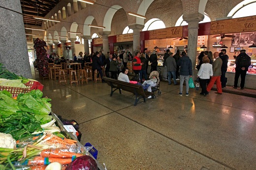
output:
[[[183,82],[186,82],[186,96],[189,95],[189,79],[192,77],[192,61],[187,56],[186,52],[181,53],[182,57],[178,61],[178,67],[180,67],[180,92],[182,96]]]

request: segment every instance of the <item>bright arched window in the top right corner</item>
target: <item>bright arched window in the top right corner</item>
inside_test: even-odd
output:
[[[227,15],[232,18],[248,17],[256,15],[256,0],[244,0],[237,4]]]

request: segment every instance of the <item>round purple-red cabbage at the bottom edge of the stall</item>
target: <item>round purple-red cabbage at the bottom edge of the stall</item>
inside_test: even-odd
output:
[[[97,164],[91,156],[84,155],[68,164],[66,170],[97,170]]]

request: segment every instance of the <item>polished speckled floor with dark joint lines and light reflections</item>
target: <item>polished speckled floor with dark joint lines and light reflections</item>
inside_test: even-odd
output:
[[[108,170],[256,170],[256,98],[211,91],[206,97],[160,82],[161,95],[134,95],[106,83],[40,80],[52,111],[75,119]],[[185,87],[184,87],[185,88]]]

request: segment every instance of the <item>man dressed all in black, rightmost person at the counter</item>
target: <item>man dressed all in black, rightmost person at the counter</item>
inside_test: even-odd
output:
[[[251,57],[249,57],[246,53],[246,50],[241,50],[240,54],[235,59],[235,81],[233,88],[237,88],[238,79],[241,75],[241,83],[240,88],[244,89],[245,86],[245,76],[246,72],[251,65]]]

